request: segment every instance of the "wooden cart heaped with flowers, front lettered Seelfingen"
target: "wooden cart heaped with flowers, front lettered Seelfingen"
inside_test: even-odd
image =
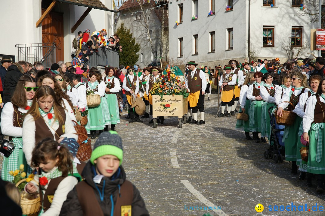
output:
[[[157,128],[157,117],[177,116],[179,128],[186,124],[188,107],[188,88],[180,76],[176,76],[170,70],[162,75],[150,89],[152,95],[153,127]],[[162,120],[163,123],[163,120]]]

